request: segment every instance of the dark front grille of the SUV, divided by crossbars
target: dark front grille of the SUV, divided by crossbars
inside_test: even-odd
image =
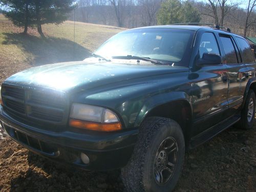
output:
[[[4,85],[2,98],[7,112],[23,116],[25,119],[53,123],[63,123],[65,120],[67,101],[62,92],[37,91]]]

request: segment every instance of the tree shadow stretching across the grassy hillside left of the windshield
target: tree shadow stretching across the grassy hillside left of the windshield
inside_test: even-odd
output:
[[[37,37],[22,33],[3,33],[3,45],[16,45],[28,53],[27,62],[32,66],[48,63],[83,60],[90,51],[75,42],[56,37]]]

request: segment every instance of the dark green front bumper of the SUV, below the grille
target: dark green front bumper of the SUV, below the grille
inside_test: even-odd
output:
[[[109,170],[125,166],[138,135],[138,129],[112,133],[38,129],[15,120],[5,113],[1,105],[0,122],[9,137],[30,151],[88,170]],[[89,156],[89,164],[81,161],[81,153]]]

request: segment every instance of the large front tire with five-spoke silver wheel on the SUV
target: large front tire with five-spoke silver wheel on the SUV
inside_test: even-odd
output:
[[[184,155],[185,142],[180,125],[168,118],[147,118],[140,127],[129,163],[121,169],[126,190],[172,191],[180,177]],[[173,164],[166,165],[168,161]]]

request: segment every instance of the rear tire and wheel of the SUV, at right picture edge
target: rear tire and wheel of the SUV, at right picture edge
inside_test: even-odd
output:
[[[254,116],[255,116],[255,93],[253,90],[249,90],[248,96],[245,101],[244,108],[241,111],[241,119],[236,124],[236,127],[243,129],[243,130],[249,130],[253,127],[254,123]],[[252,106],[251,106],[252,105]],[[251,108],[250,108],[251,106]],[[252,110],[250,110],[252,109]],[[251,112],[250,112],[251,111]],[[249,112],[251,118],[249,118]]]

